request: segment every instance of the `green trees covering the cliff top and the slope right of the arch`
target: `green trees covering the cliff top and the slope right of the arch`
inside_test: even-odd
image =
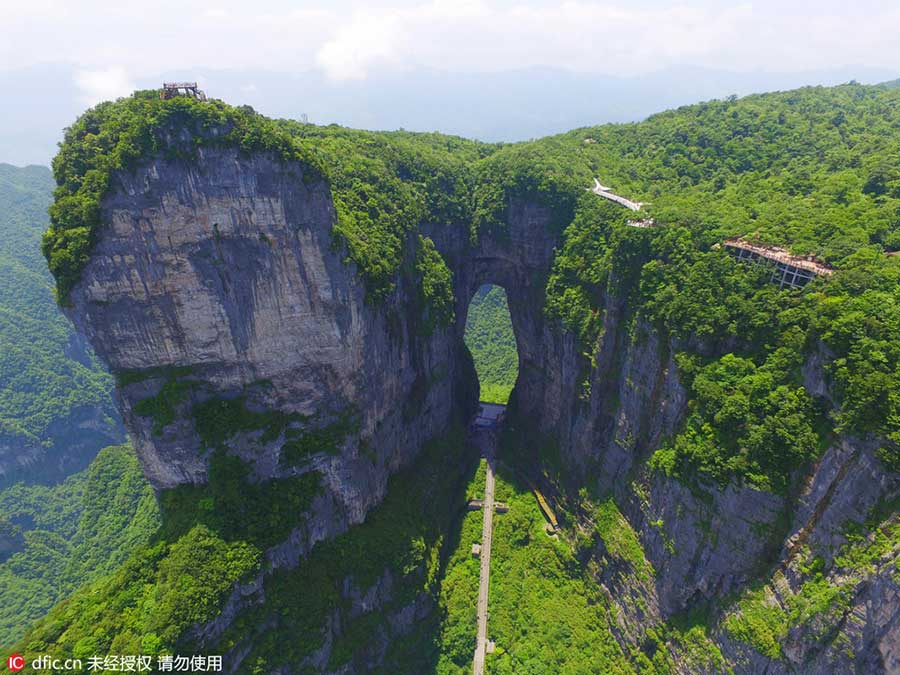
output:
[[[327,178],[335,234],[370,298],[385,298],[404,259],[413,261],[406,269],[429,332],[452,320],[451,273],[417,226],[468,222],[473,241],[502,237],[510,200],[530,200],[561,233],[547,315],[590,355],[607,303],[625,299],[632,319],[679,351],[691,416],[655,466],[783,490],[833,432],[876,434],[886,464],[900,463],[900,258],[885,255],[900,247],[898,102],[886,87],[808,88],[489,146],[270,121],[140,92],[97,106],[67,132],[44,251],[65,297],[115,170],[207,144],[271,152]],[[627,227],[627,212],[586,191],[594,176],[651,202],[658,226]],[[815,255],[836,273],[802,293],[779,291],[764,270],[716,248],[735,236]],[[816,351],[834,406],[802,387]],[[505,386],[508,369],[502,378]]]

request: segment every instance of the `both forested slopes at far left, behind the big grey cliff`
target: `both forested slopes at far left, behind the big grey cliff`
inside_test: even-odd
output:
[[[112,378],[56,304],[40,252],[55,183],[0,164],[0,645],[156,528]],[[99,454],[98,454],[99,453]]]

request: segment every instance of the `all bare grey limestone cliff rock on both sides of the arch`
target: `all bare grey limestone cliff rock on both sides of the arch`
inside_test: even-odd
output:
[[[281,461],[283,435],[229,441],[256,479],[324,476],[304,525],[267,552],[273,567],[296,565],[316,541],[361,522],[388,477],[454,416],[472,411],[475,376],[462,334],[469,300],[484,283],[508,292],[520,358],[517,419],[555,439],[567,467],[615,496],[655,570],[649,582],[615,565],[600,572],[631,646],[654,621],[721,601],[772,570],[788,585],[801,583],[804,547],[830,560],[846,523],[900,490],[872,443],[852,438],[825,453],[792,501],[737,485],[697,494],[649,473],[646,458],[686,412],[673,359],[679,345],[626,322],[621,298],[605,299],[595,366],[571,334],[549,324],[543,297],[559,233],[532,201],[509,202],[507,230],[476,244],[465,223],[421,224],[454,275],[456,323],[432,335],[420,329],[416,289],[402,276],[383,304],[366,302],[362,280],[334,245],[329,189],[300,165],[227,149],[200,150],[190,162],[156,158],[115,175],[103,219],[68,312],[120,374],[126,424],[157,488],[207,479],[208,454],[190,411],[210,398],[242,397],[250,410],[303,415],[311,427],[347,414],[358,421],[338,452],[314,454],[301,467]],[[822,358],[805,373],[817,396],[827,395]],[[172,382],[189,386],[171,419],[159,425],[140,414],[140,403]],[[387,576],[372,598],[354,602],[379,604],[390,584]],[[236,588],[221,616],[197,627],[202,641],[220,636],[259,591],[258,579]],[[736,672],[811,663],[816,672],[888,672],[900,666],[898,597],[887,562],[874,567],[854,587],[831,641],[798,630],[789,663],[747,651],[724,630],[715,639]],[[405,608],[392,619],[397,632],[426,611]],[[332,629],[328,635],[339,627]],[[837,634],[853,645],[849,661],[836,655]]]

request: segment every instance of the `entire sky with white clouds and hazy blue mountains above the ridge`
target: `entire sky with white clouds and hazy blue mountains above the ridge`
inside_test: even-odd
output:
[[[0,162],[164,80],[271,116],[522,140],[730,94],[900,77],[900,3],[0,0]]]

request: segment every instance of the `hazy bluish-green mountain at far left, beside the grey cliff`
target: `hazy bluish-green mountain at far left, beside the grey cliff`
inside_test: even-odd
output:
[[[124,432],[112,379],[59,311],[40,252],[44,167],[0,164],[0,487],[55,482]]]

